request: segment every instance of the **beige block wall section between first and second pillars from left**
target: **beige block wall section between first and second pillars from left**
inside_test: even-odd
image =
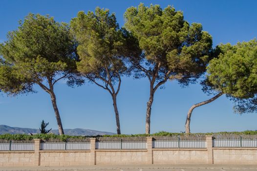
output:
[[[40,166],[78,166],[90,164],[90,151],[40,151]]]

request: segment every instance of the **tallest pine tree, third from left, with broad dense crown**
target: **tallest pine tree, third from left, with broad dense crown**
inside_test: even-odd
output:
[[[125,27],[138,39],[142,55],[129,58],[136,78],[147,77],[150,97],[146,111],[146,133],[154,93],[169,79],[182,85],[194,82],[205,71],[212,49],[212,37],[199,23],[189,24],[181,11],[160,5],[130,7]]]

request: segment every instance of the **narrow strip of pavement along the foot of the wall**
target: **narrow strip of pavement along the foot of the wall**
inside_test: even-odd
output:
[[[0,171],[257,171],[257,165],[120,165],[0,167]]]

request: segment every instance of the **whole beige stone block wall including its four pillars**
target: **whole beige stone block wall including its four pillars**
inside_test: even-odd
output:
[[[126,164],[257,164],[257,148],[213,148],[206,136],[206,149],[155,149],[147,137],[145,150],[98,150],[90,139],[90,150],[0,151],[1,166],[78,166]]]

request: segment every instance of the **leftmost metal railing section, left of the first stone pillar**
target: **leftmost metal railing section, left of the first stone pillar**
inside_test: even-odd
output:
[[[12,142],[0,143],[0,151],[33,151],[34,142]]]

